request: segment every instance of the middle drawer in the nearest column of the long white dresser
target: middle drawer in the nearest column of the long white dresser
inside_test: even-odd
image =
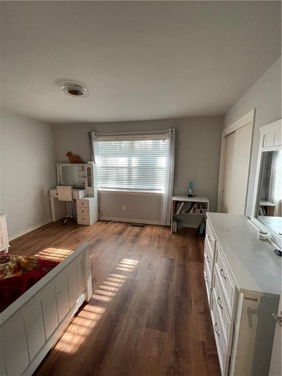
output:
[[[216,270],[213,274],[212,294],[214,304],[217,308],[217,315],[220,321],[220,326],[222,328],[222,336],[226,346],[226,353],[228,355],[231,355],[234,323],[229,318]]]

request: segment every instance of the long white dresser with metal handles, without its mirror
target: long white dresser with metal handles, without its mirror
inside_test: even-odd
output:
[[[204,279],[222,375],[267,376],[281,258],[244,215],[207,213]]]

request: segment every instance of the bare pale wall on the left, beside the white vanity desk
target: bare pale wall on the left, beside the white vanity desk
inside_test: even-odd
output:
[[[9,237],[51,220],[55,163],[53,125],[1,112],[0,210],[8,214]]]

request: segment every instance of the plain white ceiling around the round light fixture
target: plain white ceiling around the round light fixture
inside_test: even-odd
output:
[[[0,6],[1,104],[53,123],[224,114],[281,55],[280,1]]]

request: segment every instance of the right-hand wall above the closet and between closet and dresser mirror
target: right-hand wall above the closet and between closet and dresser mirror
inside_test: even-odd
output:
[[[281,114],[281,57],[226,113],[224,128],[256,107],[255,130],[251,157],[250,181],[246,215],[251,215],[254,183],[258,161],[259,128],[282,117]]]

